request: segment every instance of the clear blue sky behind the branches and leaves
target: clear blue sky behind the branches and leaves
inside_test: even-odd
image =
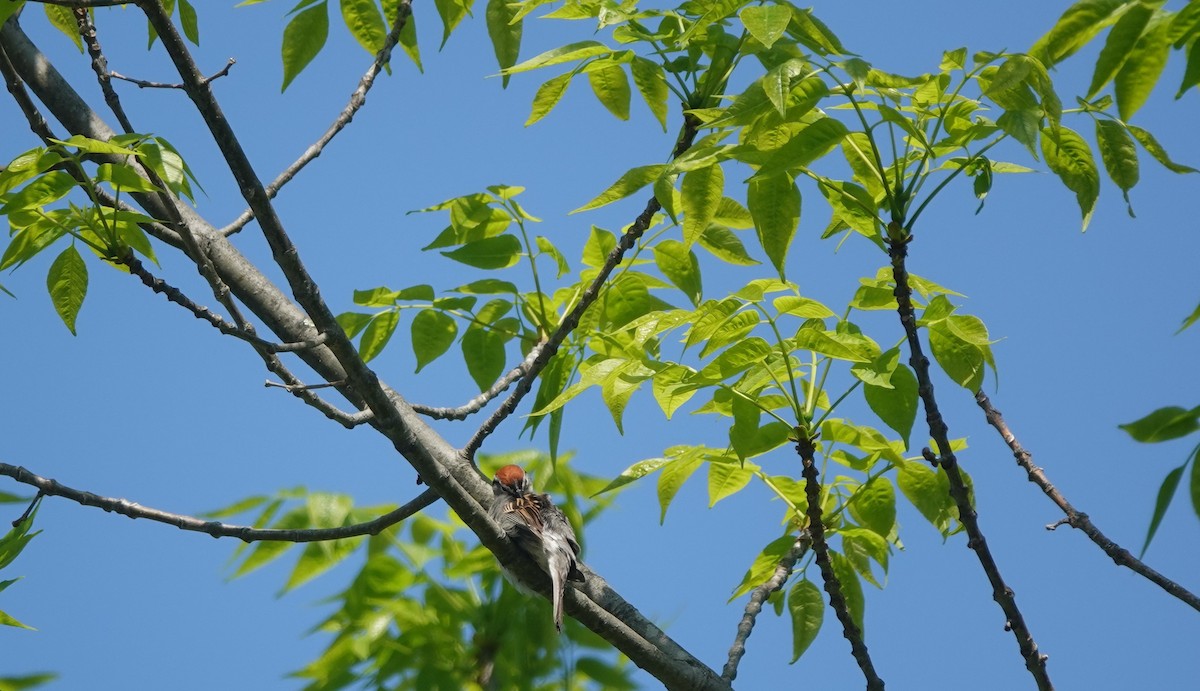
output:
[[[280,95],[278,42],[288,6],[226,5],[200,7],[197,54],[210,71],[236,58],[217,94],[260,175],[270,179],[324,130],[370,58],[335,24],[325,52]],[[1066,4],[814,7],[868,61],[918,73],[936,68],[943,49],[964,44],[1024,49]],[[26,31],[60,70],[90,84],[85,60],[46,28],[36,10],[26,11]],[[545,220],[536,232],[577,265],[590,224],[619,229],[640,211],[642,196],[596,212],[566,212],[628,168],[664,161],[679,124],[672,113],[664,133],[636,100],[631,120],[618,121],[577,82],[556,112],[526,128],[533,92],[552,73],[517,76],[502,90],[481,12],[439,53],[432,6],[419,2],[415,11],[425,73],[397,55],[394,74],[380,78],[350,128],[278,198],[301,256],[338,311],[350,307],[356,288],[460,283],[451,263],[418,253],[440,230],[443,217],[406,212],[493,184],[526,186],[522,204]],[[114,70],[174,80],[161,48],[144,50],[138,13],[100,11],[98,19]],[[529,22],[521,55],[588,36],[583,25]],[[1093,59],[1094,50],[1056,73],[1064,102],[1086,89]],[[1170,100],[1181,70],[1172,55],[1163,88],[1133,122],[1154,132],[1175,160],[1198,166],[1200,140],[1187,125],[1196,110],[1195,91],[1181,102]],[[199,211],[217,224],[236,216],[240,197],[186,97],[130,85],[120,90],[136,126],[163,134],[187,157],[208,192]],[[0,100],[0,158],[35,145],[7,100]],[[1088,125],[1080,121],[1076,128]],[[1030,164],[1019,151],[1004,155]],[[1182,463],[1188,446],[1138,445],[1116,426],[1160,405],[1194,405],[1200,390],[1194,366],[1200,331],[1172,336],[1200,300],[1194,269],[1200,238],[1189,209],[1200,175],[1170,174],[1145,155],[1141,172],[1133,191],[1138,218],[1126,215],[1118,191],[1106,185],[1086,234],[1079,232],[1072,193],[1049,173],[997,179],[978,216],[968,187],[958,186],[923,216],[910,263],[913,272],[968,296],[962,308],[1000,338],[994,346],[998,383],[989,377],[989,395],[1055,485],[1133,549],[1145,535],[1158,483]],[[803,214],[788,275],[805,295],[836,308],[853,294],[857,278],[874,276],[886,257],[854,239],[836,252],[834,242],[818,240],[828,211],[814,190],[805,190]],[[254,233],[242,233],[238,244],[252,258],[268,259]],[[194,270],[166,251],[162,256],[162,275],[204,295]],[[89,265],[91,290],[79,335],[72,337],[46,298],[48,262],[0,278],[18,295],[0,298],[6,325],[0,461],[185,513],[295,485],[350,493],[362,505],[416,493],[412,469],[384,439],[368,429],[347,432],[264,389],[266,373],[247,348],[97,263]],[[708,295],[756,276],[712,264],[704,269]],[[894,318],[869,324],[895,326]],[[899,336],[888,330],[877,340]],[[474,393],[452,360],[414,377],[401,341],[373,366],[422,403],[458,404]],[[1081,534],[1046,531],[1044,525],[1061,516],[1057,509],[1025,480],[971,395],[944,377],[936,384],[952,435],[970,443],[961,461],[974,477],[980,525],[1050,655],[1058,686],[1124,689],[1147,678],[1164,689],[1194,684],[1200,673],[1196,613],[1114,566]],[[707,419],[679,415],[666,423],[643,393],[626,411],[626,421],[636,423],[626,425],[625,435],[613,428],[598,395],[580,399],[563,443],[576,451],[580,468],[611,476],[673,444],[724,444]],[[847,414],[870,419],[865,410]],[[515,438],[517,425],[510,427],[485,451],[527,447],[527,440]],[[462,444],[473,426],[440,428]],[[794,458],[780,453],[769,462],[784,471]],[[11,482],[0,482],[0,489],[20,491]],[[709,510],[697,475],[659,527],[654,483],[643,482],[620,494],[589,530],[584,557],[684,647],[720,668],[744,603],[726,600],[758,549],[779,534],[781,511],[768,499],[751,488]],[[10,512],[14,518],[19,509]],[[899,521],[905,549],[893,555],[887,588],[866,593],[868,644],[883,679],[893,689],[1030,687],[965,539],[943,545],[911,509],[901,507]],[[228,582],[229,541],[61,499],[46,501],[38,527],[44,533],[5,572],[25,578],[0,597],[0,608],[38,631],[0,630],[0,675],[56,671],[62,689],[296,687],[283,674],[322,649],[322,639],[304,633],[325,613],[320,597],[350,573],[334,571],[276,597],[288,560]],[[1198,539],[1200,523],[1181,495],[1147,560],[1195,590]],[[827,617],[817,641],[790,667],[790,627],[764,615],[738,687],[781,680],[859,687],[862,675],[833,621]]]

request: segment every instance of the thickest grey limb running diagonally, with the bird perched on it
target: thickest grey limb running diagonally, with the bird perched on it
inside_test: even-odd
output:
[[[163,36],[162,31],[160,36]],[[107,140],[113,136],[112,128],[62,79],[14,22],[7,22],[0,30],[0,47],[7,50],[25,83],[70,132],[100,140]],[[185,78],[185,82],[194,85],[198,79],[200,78],[193,74]],[[193,86],[190,95],[194,91]],[[161,208],[161,202],[155,196],[133,197],[139,204],[145,205],[149,215],[166,217],[166,210]],[[253,197],[257,204],[260,197],[258,193]],[[179,212],[230,290],[281,341],[300,342],[318,336],[313,320],[212,226],[187,206],[180,205]],[[340,328],[338,332],[344,337]],[[344,351],[342,354],[344,355]],[[388,437],[422,480],[446,500],[480,541],[497,554],[502,564],[524,575],[530,583],[539,577],[545,579],[541,570],[517,552],[499,527],[487,518],[484,506],[491,499],[490,483],[480,476],[469,461],[461,457],[444,438],[431,429],[400,395],[378,383],[374,391],[370,387],[360,390],[358,381],[348,378],[346,368],[340,359],[335,357],[329,344],[301,350],[296,355],[326,381],[344,381],[338,385],[338,390],[355,405],[370,404],[373,410],[388,408],[385,415],[377,415],[372,420],[372,426]],[[373,379],[373,373],[370,373],[370,377],[372,381],[377,381]],[[728,689],[728,684],[715,672],[671,641],[608,588],[604,578],[588,573],[588,582],[583,587],[568,590],[566,611],[570,614],[604,636],[667,687]],[[546,585],[548,587],[548,583]]]

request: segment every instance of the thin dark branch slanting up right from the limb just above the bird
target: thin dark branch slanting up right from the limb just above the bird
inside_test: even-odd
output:
[[[700,121],[691,115],[685,115],[683,130],[679,132],[676,146],[671,151],[672,160],[678,158],[691,146],[691,143],[696,139],[696,133],[698,131]],[[484,440],[496,431],[500,422],[516,410],[517,404],[521,403],[521,399],[524,398],[526,393],[528,393],[533,387],[534,379],[538,378],[538,374],[546,368],[551,359],[553,359],[553,356],[558,353],[558,348],[563,344],[563,341],[566,340],[568,335],[570,335],[571,331],[578,326],[580,319],[583,317],[587,308],[595,302],[596,298],[600,296],[600,289],[604,288],[605,283],[608,281],[608,275],[612,274],[613,269],[616,269],[618,264],[620,264],[620,260],[625,257],[625,252],[631,250],[638,238],[641,238],[642,234],[646,233],[646,229],[650,227],[654,215],[658,214],[660,209],[662,209],[662,205],[659,204],[659,200],[650,197],[650,200],[646,204],[646,209],[637,216],[634,223],[630,224],[629,230],[620,236],[620,240],[617,241],[617,246],[608,252],[608,257],[605,259],[604,266],[601,266],[596,272],[595,278],[593,278],[592,283],[588,284],[583,295],[580,296],[580,301],[575,304],[575,307],[565,317],[563,317],[563,320],[558,324],[558,328],[554,329],[554,332],[550,335],[550,338],[547,338],[545,343],[542,343],[541,350],[538,351],[538,356],[534,359],[532,366],[517,383],[517,387],[509,393],[509,397],[504,399],[504,403],[499,408],[492,411],[492,415],[488,416],[487,421],[485,421],[479,429],[475,431],[475,434],[472,435],[467,445],[463,446],[463,453],[468,458],[473,458],[475,452],[479,451],[479,447],[484,445]]]

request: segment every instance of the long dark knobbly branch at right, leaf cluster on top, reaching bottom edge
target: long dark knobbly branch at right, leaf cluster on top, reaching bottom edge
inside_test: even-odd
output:
[[[1000,566],[996,564],[996,559],[988,547],[988,541],[979,528],[974,506],[971,505],[970,491],[962,480],[962,473],[959,471],[958,458],[950,449],[949,427],[947,427],[941,411],[937,409],[937,398],[934,396],[934,381],[929,375],[929,357],[925,356],[920,337],[917,334],[917,313],[912,306],[912,287],[908,284],[908,269],[905,264],[911,241],[912,235],[902,234],[900,224],[893,221],[889,227],[888,239],[888,256],[892,258],[892,276],[895,280],[893,293],[896,298],[896,312],[900,316],[900,324],[908,341],[911,353],[908,363],[917,373],[917,391],[925,407],[925,421],[929,425],[929,434],[932,437],[934,444],[937,445],[938,465],[946,471],[946,477],[950,485],[950,495],[959,509],[959,521],[967,533],[967,547],[974,551],[976,557],[979,558],[979,564],[983,566],[984,573],[991,583],[991,596],[1004,612],[1004,617],[1008,618],[1006,629],[1010,630],[1013,636],[1016,637],[1016,644],[1020,648],[1021,656],[1025,659],[1025,667],[1033,675],[1038,689],[1048,691],[1054,689],[1054,684],[1051,684],[1050,675],[1046,673],[1046,656],[1038,651],[1038,644],[1033,641],[1033,635],[1030,632],[1028,626],[1025,625],[1021,611],[1016,607],[1016,596],[1013,589],[1004,584],[1004,579],[1000,573]]]

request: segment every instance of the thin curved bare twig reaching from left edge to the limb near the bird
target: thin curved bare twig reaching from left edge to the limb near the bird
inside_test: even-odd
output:
[[[113,497],[101,497],[83,489],[74,489],[49,477],[35,475],[20,465],[0,463],[0,475],[7,475],[17,482],[36,487],[38,495],[62,497],[84,506],[96,506],[110,513],[120,513],[130,518],[146,518],[158,523],[174,525],[180,530],[204,533],[214,537],[236,537],[242,542],[323,542],[326,540],[342,540],[346,537],[358,537],[360,535],[378,535],[385,528],[400,523],[421,509],[438,500],[438,494],[433,489],[426,489],[414,499],[394,509],[383,516],[355,523],[353,525],[340,525],[337,528],[308,528],[295,530],[282,530],[274,528],[253,528],[250,525],[229,525],[218,521],[204,521],[194,516],[182,513],[170,513],[149,506],[142,506],[127,499]]]

